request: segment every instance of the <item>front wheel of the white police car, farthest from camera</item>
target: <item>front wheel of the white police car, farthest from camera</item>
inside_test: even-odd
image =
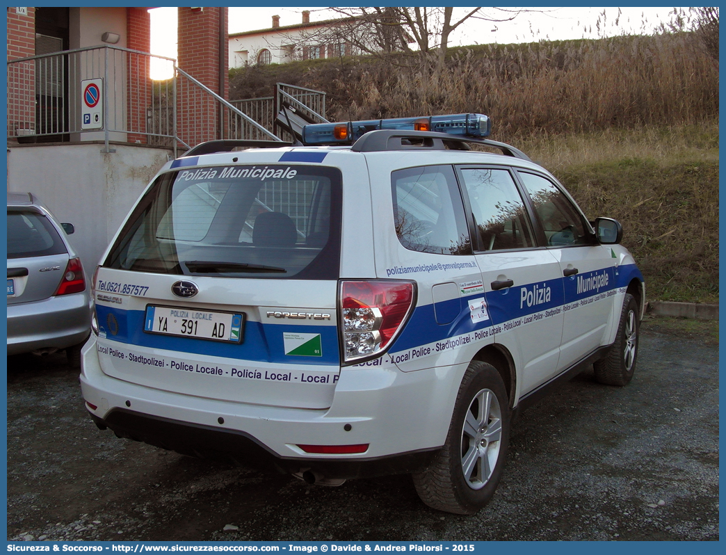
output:
[[[634,296],[625,293],[615,343],[608,354],[593,365],[595,378],[600,384],[625,386],[630,383],[635,373],[639,336],[640,318],[637,301]]]

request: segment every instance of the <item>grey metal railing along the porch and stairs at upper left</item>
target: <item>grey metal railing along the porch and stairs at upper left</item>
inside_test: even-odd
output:
[[[152,79],[155,63],[168,64],[171,76]],[[79,80],[95,77],[104,82],[102,125],[84,127]],[[188,149],[214,138],[284,142],[277,137],[274,123],[275,108],[282,102],[311,121],[327,121],[325,92],[278,83],[273,97],[229,101],[179,68],[173,58],[112,45],[8,60],[7,87],[9,139],[34,142],[23,137],[97,133],[105,152],[111,151],[110,142],[116,140],[167,145],[175,155],[179,146]],[[216,134],[208,125],[211,120],[204,120],[208,116],[197,117],[210,108],[219,112],[214,116],[219,117]]]

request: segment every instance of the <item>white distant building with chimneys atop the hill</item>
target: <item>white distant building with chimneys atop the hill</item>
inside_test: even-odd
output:
[[[273,15],[271,28],[229,34],[229,67],[351,55],[351,44],[330,38],[335,33],[324,38],[325,28],[342,26],[348,21],[350,18],[310,23],[310,12],[306,10],[301,23],[281,27],[280,16]]]

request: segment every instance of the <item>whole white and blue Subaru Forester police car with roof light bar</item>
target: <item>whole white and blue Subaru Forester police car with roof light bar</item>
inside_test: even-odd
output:
[[[490,128],[322,123],[166,164],[94,274],[91,418],[310,483],[412,474],[429,506],[481,509],[516,410],[589,364],[630,381],[645,302],[618,222]]]

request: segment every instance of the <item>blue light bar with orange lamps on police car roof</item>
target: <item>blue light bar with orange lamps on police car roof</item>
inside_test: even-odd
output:
[[[400,131],[435,131],[465,137],[487,137],[492,132],[492,120],[484,114],[453,114],[422,118],[391,118],[340,123],[312,123],[303,126],[305,145],[348,144],[368,131],[397,129]]]

